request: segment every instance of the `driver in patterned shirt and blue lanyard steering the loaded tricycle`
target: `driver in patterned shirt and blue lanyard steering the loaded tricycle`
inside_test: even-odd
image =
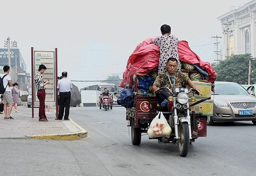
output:
[[[172,92],[174,92],[175,88],[185,87],[186,84],[189,84],[191,88],[196,88],[195,84],[188,78],[188,75],[177,70],[178,61],[176,58],[169,58],[166,66],[167,72],[158,74],[152,86],[152,90],[156,92],[158,104],[161,105],[162,109],[167,108],[168,100],[166,98],[170,95],[164,91],[160,92],[160,87],[168,87]]]

